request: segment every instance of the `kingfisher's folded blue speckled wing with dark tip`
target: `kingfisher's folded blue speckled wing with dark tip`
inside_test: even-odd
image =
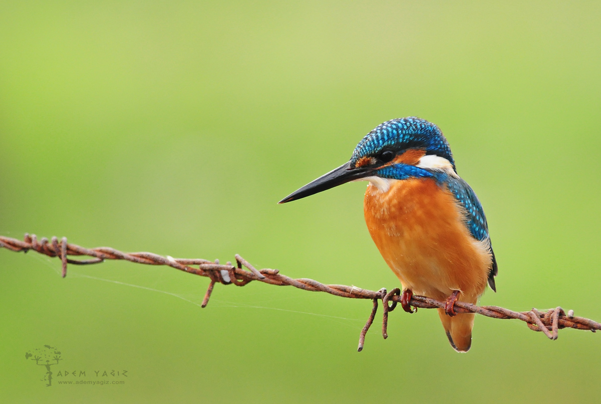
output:
[[[463,179],[453,176],[447,176],[446,182],[448,189],[456,197],[457,201],[463,208],[465,208],[468,215],[467,223],[469,232],[472,237],[476,240],[486,240],[489,245],[490,255],[492,256],[492,265],[489,271],[488,282],[490,288],[496,292],[495,276],[498,273],[498,267],[496,264],[495,253],[492,250],[492,244],[490,244],[490,236],[488,232],[488,223],[486,223],[486,216],[484,216],[484,210],[480,204],[480,200]]]

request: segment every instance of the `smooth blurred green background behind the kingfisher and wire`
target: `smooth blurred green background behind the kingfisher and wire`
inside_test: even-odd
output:
[[[2,2],[0,234],[233,260],[398,286],[365,228],[365,183],[287,205],[392,118],[429,119],[480,197],[514,310],[601,319],[599,2]],[[3,402],[590,403],[600,337],[477,318],[469,354],[434,310],[217,285],[128,262],[0,250]],[[151,290],[152,289],[152,290]],[[50,388],[56,370],[120,386]],[[75,378],[72,378],[75,380]],[[88,379],[93,379],[88,377]]]

